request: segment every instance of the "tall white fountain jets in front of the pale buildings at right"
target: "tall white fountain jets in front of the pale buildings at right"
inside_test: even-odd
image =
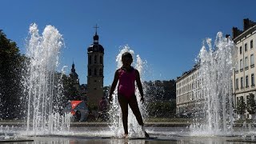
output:
[[[233,131],[232,70],[236,51],[230,38],[218,32],[214,46],[207,38],[198,54],[198,82],[202,107],[198,107],[191,135],[222,135]],[[199,94],[198,93],[198,94]],[[195,92],[194,92],[195,94]],[[201,110],[200,110],[201,109]]]

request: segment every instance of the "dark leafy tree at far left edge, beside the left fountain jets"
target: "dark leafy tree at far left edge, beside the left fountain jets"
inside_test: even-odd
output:
[[[22,70],[26,57],[0,30],[0,119],[22,117]]]

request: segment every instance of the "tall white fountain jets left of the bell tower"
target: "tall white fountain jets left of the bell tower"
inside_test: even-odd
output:
[[[30,25],[26,46],[26,57],[30,62],[24,78],[28,106],[27,133],[52,134],[69,129],[69,116],[58,114],[53,106],[54,98],[62,97],[62,75],[58,78],[56,69],[63,45],[62,34],[54,26],[46,26],[41,36],[38,26]]]

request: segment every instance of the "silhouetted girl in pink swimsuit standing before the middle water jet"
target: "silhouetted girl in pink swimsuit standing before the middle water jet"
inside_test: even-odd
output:
[[[112,94],[114,93],[115,87],[118,84],[118,102],[122,110],[122,124],[125,130],[125,137],[128,137],[128,105],[133,111],[138,124],[142,126],[142,131],[145,134],[145,137],[148,138],[149,134],[146,133],[144,123],[142,120],[142,114],[138,109],[138,102],[135,95],[135,81],[138,86],[138,90],[141,94],[141,102],[144,102],[144,94],[142,90],[142,82],[138,70],[130,66],[133,62],[133,57],[129,52],[122,54],[122,67],[116,70],[114,74],[114,81],[110,88],[110,99],[112,102]],[[118,83],[119,81],[119,83]]]

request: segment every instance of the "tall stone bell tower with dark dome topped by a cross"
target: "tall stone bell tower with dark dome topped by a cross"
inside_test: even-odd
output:
[[[87,49],[88,54],[88,74],[87,74],[87,103],[93,110],[98,110],[98,103],[103,96],[103,56],[104,48],[98,43],[98,34],[96,25],[94,35],[94,44]]]

